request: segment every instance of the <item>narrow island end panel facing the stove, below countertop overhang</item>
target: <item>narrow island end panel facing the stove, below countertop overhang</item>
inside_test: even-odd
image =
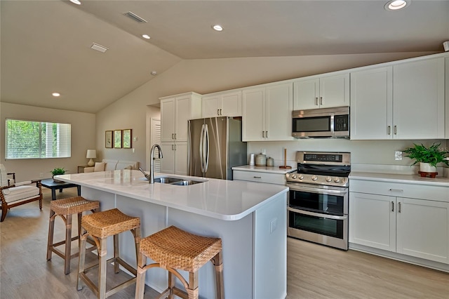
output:
[[[254,298],[287,296],[287,193],[255,211]]]

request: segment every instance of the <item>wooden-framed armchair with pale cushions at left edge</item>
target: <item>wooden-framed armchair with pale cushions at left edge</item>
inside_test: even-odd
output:
[[[13,176],[13,180],[8,178]],[[41,180],[29,180],[25,182],[15,182],[15,173],[6,173],[5,166],[0,164],[0,199],[1,218],[3,222],[6,213],[10,208],[28,204],[39,200],[39,208],[42,210],[42,186]]]

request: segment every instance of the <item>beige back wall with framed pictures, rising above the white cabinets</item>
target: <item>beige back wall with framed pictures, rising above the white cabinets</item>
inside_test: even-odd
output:
[[[146,165],[147,133],[145,133],[146,107],[159,104],[159,98],[188,91],[205,94],[225,91],[232,88],[252,86],[256,84],[293,79],[312,74],[333,72],[352,67],[373,65],[376,63],[412,58],[431,53],[375,53],[354,55],[310,55],[297,57],[264,57],[264,58],[225,58],[208,60],[182,60],[166,72],[137,88],[132,93],[109,105],[97,114],[97,148],[107,159],[127,159],[139,161]],[[135,152],[131,150],[105,149],[105,131],[114,128],[132,128],[133,135],[138,136]],[[335,141],[335,140],[334,140]],[[367,147],[372,144],[373,151],[380,143],[354,142],[352,147]],[[250,145],[249,149],[253,145]],[[291,150],[297,150],[297,142],[288,143]],[[258,145],[255,145],[258,147]],[[399,145],[394,146],[399,147]],[[327,146],[326,146],[327,148]],[[389,151],[384,155],[389,157]],[[248,150],[249,153],[249,150]],[[360,151],[363,157],[369,156]],[[387,163],[388,159],[382,159]]]

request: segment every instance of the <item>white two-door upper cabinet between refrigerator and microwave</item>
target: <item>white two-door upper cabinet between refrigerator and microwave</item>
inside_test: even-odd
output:
[[[293,140],[293,84],[243,90],[243,141]]]

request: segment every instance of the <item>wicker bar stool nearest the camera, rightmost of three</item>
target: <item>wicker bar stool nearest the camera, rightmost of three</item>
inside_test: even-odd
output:
[[[155,263],[145,265],[147,257]],[[198,270],[211,261],[215,266],[215,285],[217,298],[225,298],[223,285],[222,239],[200,237],[167,227],[140,241],[138,277],[135,299],[142,299],[145,288],[145,272],[152,267],[168,270],[168,288],[158,298],[173,298],[177,295],[185,299],[199,298]],[[189,282],[177,270],[189,272]],[[175,286],[175,277],[180,279],[187,292]]]

